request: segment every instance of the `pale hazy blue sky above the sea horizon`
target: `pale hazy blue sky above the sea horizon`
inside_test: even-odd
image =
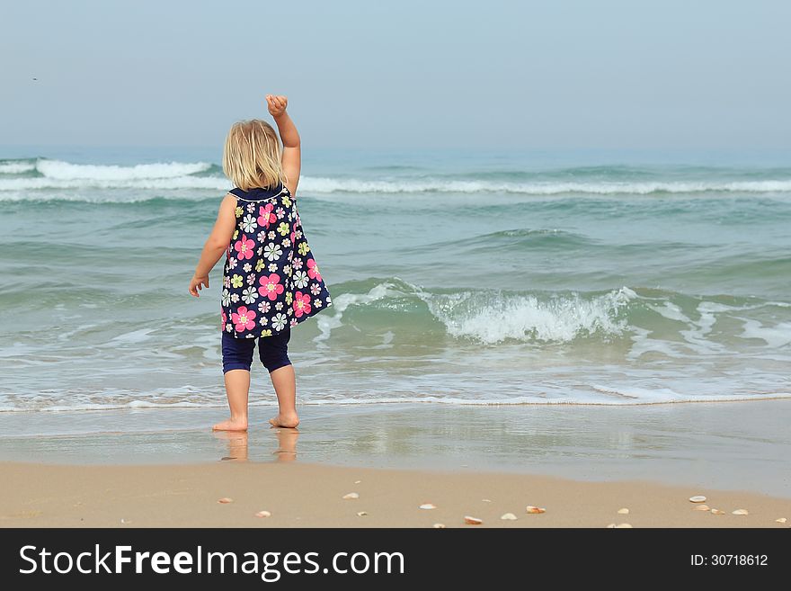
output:
[[[791,148],[791,3],[4,3],[0,145]],[[37,80],[33,80],[33,78]]]

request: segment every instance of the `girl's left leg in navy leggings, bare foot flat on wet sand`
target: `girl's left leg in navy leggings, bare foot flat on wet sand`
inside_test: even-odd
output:
[[[235,338],[223,333],[223,374],[231,417],[214,425],[218,431],[246,431],[247,398],[250,393],[250,366],[253,363],[253,338]]]

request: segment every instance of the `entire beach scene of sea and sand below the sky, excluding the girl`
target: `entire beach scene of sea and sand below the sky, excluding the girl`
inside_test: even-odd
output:
[[[247,434],[209,430],[220,267],[187,292],[218,151],[0,156],[2,526],[791,517],[783,155],[311,150],[333,306],[289,343],[298,431],[254,359]]]

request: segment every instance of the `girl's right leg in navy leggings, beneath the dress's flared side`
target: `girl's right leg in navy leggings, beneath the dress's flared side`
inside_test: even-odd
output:
[[[270,419],[271,425],[296,427],[297,416],[297,376],[289,359],[289,340],[291,328],[287,327],[272,336],[263,336],[258,343],[261,363],[269,370],[275,393],[278,395],[278,416]]]

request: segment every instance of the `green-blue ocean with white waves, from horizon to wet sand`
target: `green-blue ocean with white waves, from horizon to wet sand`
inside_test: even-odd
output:
[[[225,416],[221,261],[187,291],[219,153],[0,154],[0,422]],[[306,149],[297,200],[333,296],[289,345],[303,406],[791,397],[782,158]]]

